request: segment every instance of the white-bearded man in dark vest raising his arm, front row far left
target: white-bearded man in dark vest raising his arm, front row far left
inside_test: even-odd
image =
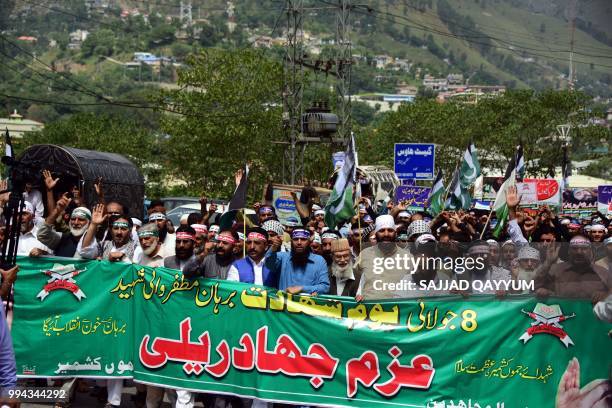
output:
[[[78,257],[77,247],[91,221],[91,211],[85,207],[77,207],[70,214],[70,221],[68,222],[70,232],[60,233],[55,231],[55,223],[64,214],[70,201],[72,199],[66,195],[57,200],[55,208],[49,213],[45,222],[40,225],[36,234],[38,240],[51,248],[55,255],[67,258],[72,258],[75,255]]]

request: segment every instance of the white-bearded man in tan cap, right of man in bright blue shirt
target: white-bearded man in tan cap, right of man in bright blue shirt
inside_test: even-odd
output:
[[[329,266],[329,294],[357,296],[361,274],[353,271],[353,259],[348,239],[336,239],[331,244],[332,264]]]

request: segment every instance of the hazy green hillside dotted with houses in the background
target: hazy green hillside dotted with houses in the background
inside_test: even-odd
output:
[[[571,1],[369,0],[354,4],[352,92],[416,89],[427,74],[455,74],[470,84],[566,89]],[[142,88],[144,82],[173,82],[177,63],[198,47],[250,47],[261,45],[258,42],[265,38],[275,48],[270,55],[281,56],[287,26],[285,2],[192,0],[190,24],[180,20],[180,4],[179,0],[11,0],[3,2],[3,10],[10,14],[0,20],[0,29],[11,41],[35,38],[17,44],[49,66],[83,75],[92,83],[106,81],[111,86],[103,83],[100,89],[111,95],[121,91],[112,79],[118,76],[138,81],[128,86],[130,90]],[[336,5],[333,0],[304,2],[306,52],[313,62],[333,56]],[[184,8],[183,17],[188,14]],[[612,96],[612,26],[608,24],[612,5],[606,0],[583,0],[576,3],[575,14],[575,88],[605,103]],[[87,31],[88,38],[75,42],[69,34],[76,30]],[[6,43],[2,46],[3,78],[23,78],[19,64],[32,64],[31,54]],[[169,63],[131,70],[121,65],[131,61],[134,52],[165,56]],[[380,56],[389,58],[379,63]],[[21,70],[21,76],[6,71],[7,65],[12,71]]]

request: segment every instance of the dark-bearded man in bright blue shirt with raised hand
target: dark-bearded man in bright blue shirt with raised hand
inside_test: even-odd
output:
[[[287,293],[327,294],[329,277],[322,256],[310,250],[310,232],[296,228],[291,233],[291,251],[280,252],[282,240],[274,237],[272,252],[266,258],[272,282]]]

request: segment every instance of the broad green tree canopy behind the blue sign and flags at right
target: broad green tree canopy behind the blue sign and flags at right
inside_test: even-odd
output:
[[[577,126],[585,122],[588,100],[579,92],[532,90],[507,91],[503,96],[481,99],[478,104],[417,99],[388,113],[361,149],[371,152],[372,162],[368,164],[392,165],[394,143],[437,143],[436,165],[450,176],[462,150],[473,140],[482,167],[503,174],[522,141],[529,174],[544,176],[560,164],[561,142],[551,136],[559,123],[569,120],[574,125],[577,146],[603,137],[600,131],[589,131],[591,127]]]

